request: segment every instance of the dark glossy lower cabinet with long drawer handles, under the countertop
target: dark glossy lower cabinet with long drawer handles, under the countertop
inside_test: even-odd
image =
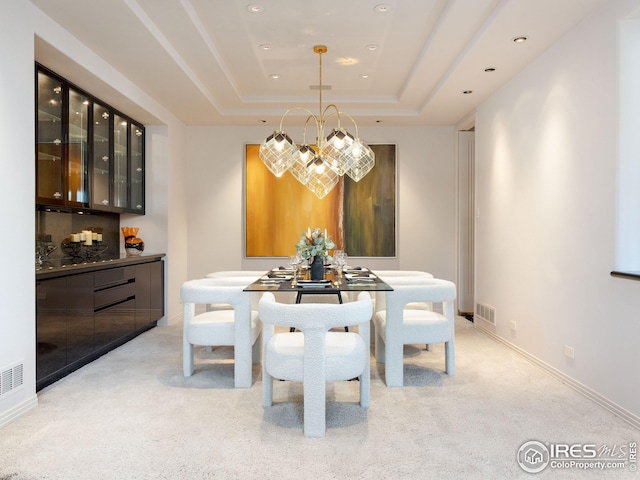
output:
[[[164,314],[163,262],[36,281],[36,390],[155,326]]]

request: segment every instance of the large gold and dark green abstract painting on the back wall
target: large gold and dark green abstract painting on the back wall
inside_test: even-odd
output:
[[[260,160],[260,145],[246,145],[246,257],[293,255],[303,232],[316,227],[349,256],[395,257],[396,146],[369,147],[373,169],[359,182],[343,176],[319,199],[291,173],[274,176]]]

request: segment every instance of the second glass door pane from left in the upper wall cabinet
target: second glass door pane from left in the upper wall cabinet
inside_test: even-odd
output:
[[[69,140],[67,162],[67,200],[87,203],[89,164],[89,98],[69,89]]]

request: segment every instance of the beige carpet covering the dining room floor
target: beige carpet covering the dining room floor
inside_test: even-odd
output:
[[[372,364],[371,407],[355,382],[328,385],[327,435],[302,434],[302,387],[278,382],[261,406],[259,367],[233,388],[231,352],[197,351],[182,376],[181,326],[157,327],[39,394],[0,429],[0,480],[531,478],[529,440],[628,445],[640,431],[457,320],[456,370],[442,346],[405,349],[405,386]],[[538,478],[632,478],[547,468]]]

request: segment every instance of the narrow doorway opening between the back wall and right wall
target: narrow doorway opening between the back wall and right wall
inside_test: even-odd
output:
[[[473,315],[475,132],[458,132],[458,315]]]

